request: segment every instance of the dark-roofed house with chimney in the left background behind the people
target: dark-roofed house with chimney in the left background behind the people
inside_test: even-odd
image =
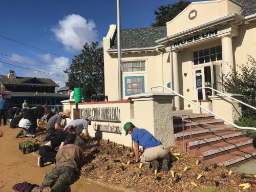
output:
[[[0,75],[1,94],[5,94],[11,107],[22,107],[26,99],[30,105],[61,104],[61,100],[69,98],[67,95],[55,93],[58,87],[52,79],[37,77],[18,77],[14,71],[8,75]]]

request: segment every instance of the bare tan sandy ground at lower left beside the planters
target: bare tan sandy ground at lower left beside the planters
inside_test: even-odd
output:
[[[55,165],[44,167],[37,166],[37,155],[30,153],[23,155],[18,149],[20,139],[16,135],[20,129],[10,129],[8,125],[0,126],[0,131],[4,132],[0,137],[0,191],[14,191],[12,186],[16,183],[27,181],[32,184],[40,185],[45,177]],[[71,186],[71,191],[124,191],[121,187],[109,188],[96,181],[79,178]]]

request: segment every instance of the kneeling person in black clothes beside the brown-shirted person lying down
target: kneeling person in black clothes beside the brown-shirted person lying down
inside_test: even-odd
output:
[[[46,143],[45,145],[42,145],[39,149],[39,155],[37,165],[39,167],[44,166],[45,162],[53,162],[55,163],[55,157],[57,151],[55,151],[55,148],[59,147],[62,148],[66,143],[65,139],[68,134],[76,135],[76,130],[73,125],[70,125],[67,127],[65,132],[62,131],[56,131],[56,134],[53,136],[51,141]]]

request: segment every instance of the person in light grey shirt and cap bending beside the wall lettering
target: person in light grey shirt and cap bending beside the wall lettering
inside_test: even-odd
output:
[[[76,134],[79,137],[83,137],[82,132],[84,132],[84,136],[87,137],[88,139],[91,139],[91,136],[88,132],[88,125],[91,125],[91,118],[90,117],[86,117],[84,119],[75,119],[71,122],[69,122],[64,130],[69,126],[69,125],[73,125],[76,127]]]

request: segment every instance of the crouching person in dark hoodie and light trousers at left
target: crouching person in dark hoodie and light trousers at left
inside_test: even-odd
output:
[[[39,123],[39,119],[43,115],[49,115],[51,112],[50,107],[48,104],[45,104],[44,106],[37,106],[34,109],[29,109],[25,112],[24,118],[19,121],[19,127],[22,128],[25,131],[20,131],[16,138],[19,136],[35,136],[36,134],[36,127]]]

